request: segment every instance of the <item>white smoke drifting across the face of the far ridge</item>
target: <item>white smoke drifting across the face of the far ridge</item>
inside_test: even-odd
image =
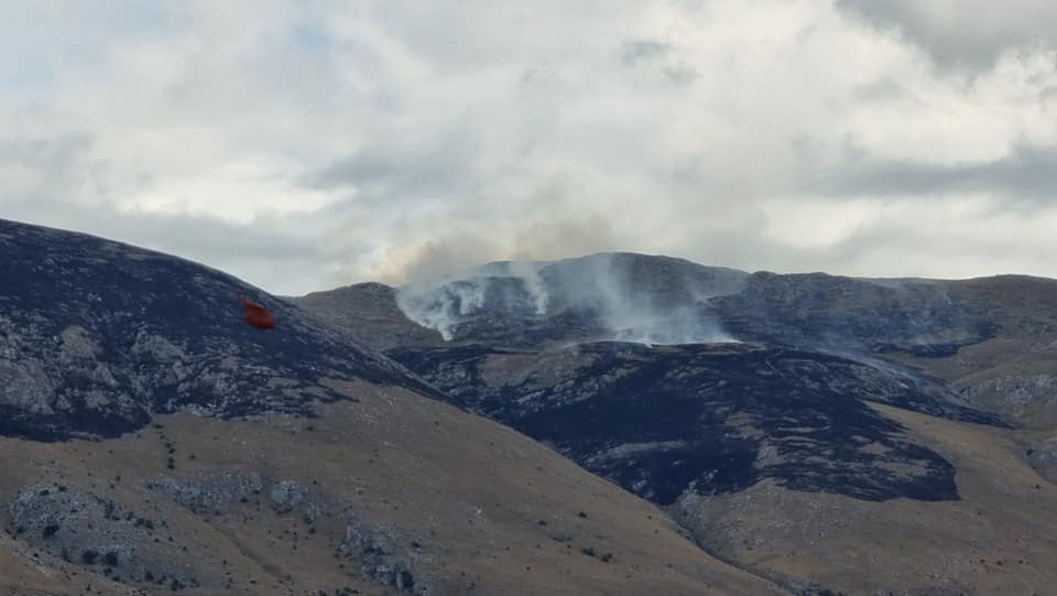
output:
[[[650,345],[733,342],[708,301],[737,291],[743,277],[630,253],[502,261],[405,284],[397,304],[447,340],[540,332]]]

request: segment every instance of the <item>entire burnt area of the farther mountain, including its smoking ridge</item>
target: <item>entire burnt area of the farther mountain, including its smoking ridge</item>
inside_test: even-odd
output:
[[[948,290],[612,253],[295,300],[335,322],[355,306],[368,342],[372,328],[400,329],[403,343],[380,333],[377,346],[453,403],[667,505],[765,478],[872,501],[957,499],[954,467],[869,405],[1004,425],[886,358],[939,357],[993,337],[987,311]],[[416,322],[447,342],[416,334]]]

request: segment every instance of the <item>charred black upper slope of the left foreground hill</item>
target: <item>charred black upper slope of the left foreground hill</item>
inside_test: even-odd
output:
[[[287,302],[200,264],[0,220],[0,434],[115,436],[152,413],[312,413],[323,378],[436,394]],[[242,321],[240,297],[277,328]]]

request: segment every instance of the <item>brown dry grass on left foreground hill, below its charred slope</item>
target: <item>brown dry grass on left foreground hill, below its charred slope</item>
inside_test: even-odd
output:
[[[166,519],[196,557],[228,561],[235,587],[197,594],[386,593],[334,557],[352,512],[421,541],[436,562],[437,594],[778,593],[695,548],[652,505],[509,429],[403,390],[340,387],[360,401],[322,407],[316,420],[177,414],[159,416],[162,429],[106,442],[0,438],[0,499],[54,481]],[[172,470],[166,442],[175,447]],[[151,478],[218,469],[295,480],[349,511],[309,533],[303,520],[268,507],[198,516],[143,489]],[[91,594],[131,593],[76,565],[34,564],[30,551],[0,542],[0,593],[87,594],[88,584]],[[602,562],[603,553],[612,560]]]

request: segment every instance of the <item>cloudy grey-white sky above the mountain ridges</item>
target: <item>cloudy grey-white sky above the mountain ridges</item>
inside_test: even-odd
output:
[[[0,218],[286,295],[611,250],[1057,277],[1054,22],[1051,0],[7,0]]]

